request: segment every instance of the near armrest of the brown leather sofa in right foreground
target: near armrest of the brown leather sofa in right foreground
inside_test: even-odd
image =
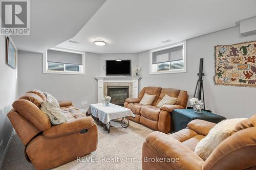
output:
[[[145,143],[156,155],[176,160],[172,163],[170,169],[202,169],[204,161],[180,141],[167,134],[152,132],[146,137]],[[142,156],[146,155],[142,151]]]

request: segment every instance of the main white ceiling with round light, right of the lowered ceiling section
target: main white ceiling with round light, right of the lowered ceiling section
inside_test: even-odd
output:
[[[166,45],[161,41],[167,39],[173,43],[234,27],[235,22],[255,16],[255,8],[255,0],[107,0],[71,38],[80,43],[65,41],[57,46],[94,53],[138,53]],[[72,26],[76,27],[73,22]],[[107,45],[97,46],[95,39],[104,39]]]

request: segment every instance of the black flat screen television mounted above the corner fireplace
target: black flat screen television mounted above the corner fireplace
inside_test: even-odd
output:
[[[131,76],[131,60],[106,60],[106,76]]]

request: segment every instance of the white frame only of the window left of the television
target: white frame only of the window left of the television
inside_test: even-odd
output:
[[[55,50],[55,51],[60,51],[60,52],[67,52],[67,53],[75,53],[75,54],[81,54],[82,55],[82,65],[79,65],[79,69],[82,71],[55,71],[55,70],[48,70],[48,62],[47,62],[47,51],[44,52],[43,54],[43,74],[61,74],[61,75],[86,75],[86,52],[82,51],[77,51],[77,50],[71,50],[67,48],[59,48],[59,47],[54,47],[50,48],[49,50]]]

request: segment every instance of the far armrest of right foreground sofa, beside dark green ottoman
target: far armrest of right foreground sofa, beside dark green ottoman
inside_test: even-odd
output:
[[[213,128],[216,124],[207,122],[205,120],[195,119],[187,124],[187,127],[191,130],[194,130],[200,135],[207,136],[210,129]]]

